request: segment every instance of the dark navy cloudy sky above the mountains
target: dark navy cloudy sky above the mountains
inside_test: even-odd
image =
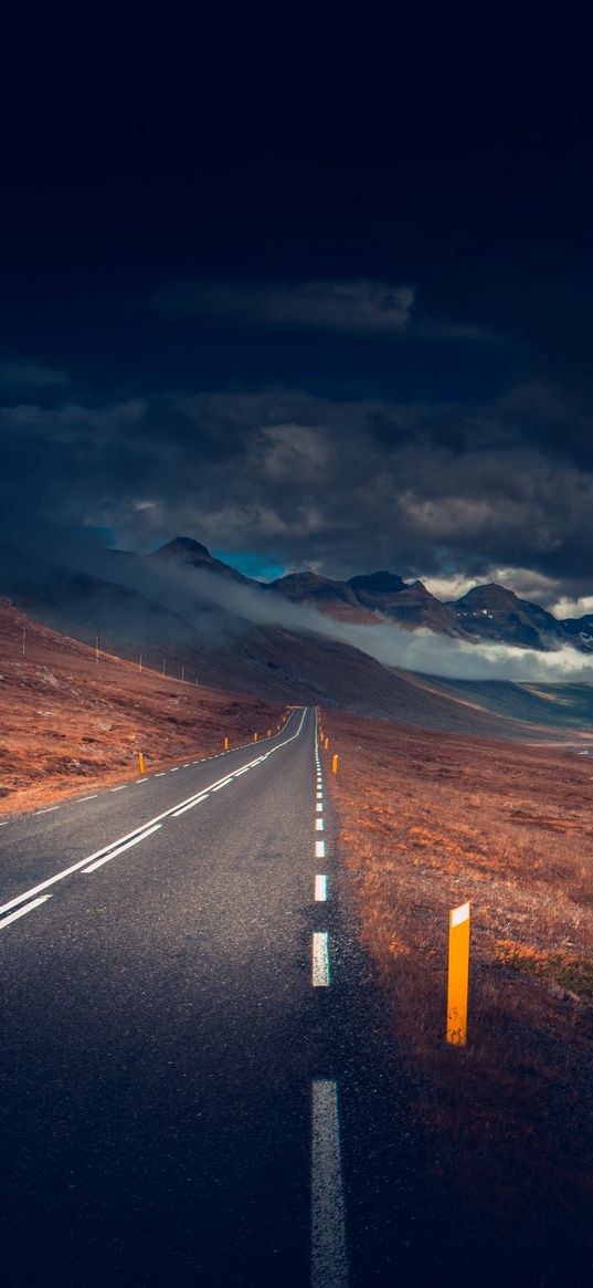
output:
[[[589,67],[410,49],[4,85],[4,536],[590,611]]]

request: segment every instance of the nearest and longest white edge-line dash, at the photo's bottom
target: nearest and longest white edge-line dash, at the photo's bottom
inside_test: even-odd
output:
[[[311,1288],[347,1288],[337,1084],[318,1078],[311,1090]]]

